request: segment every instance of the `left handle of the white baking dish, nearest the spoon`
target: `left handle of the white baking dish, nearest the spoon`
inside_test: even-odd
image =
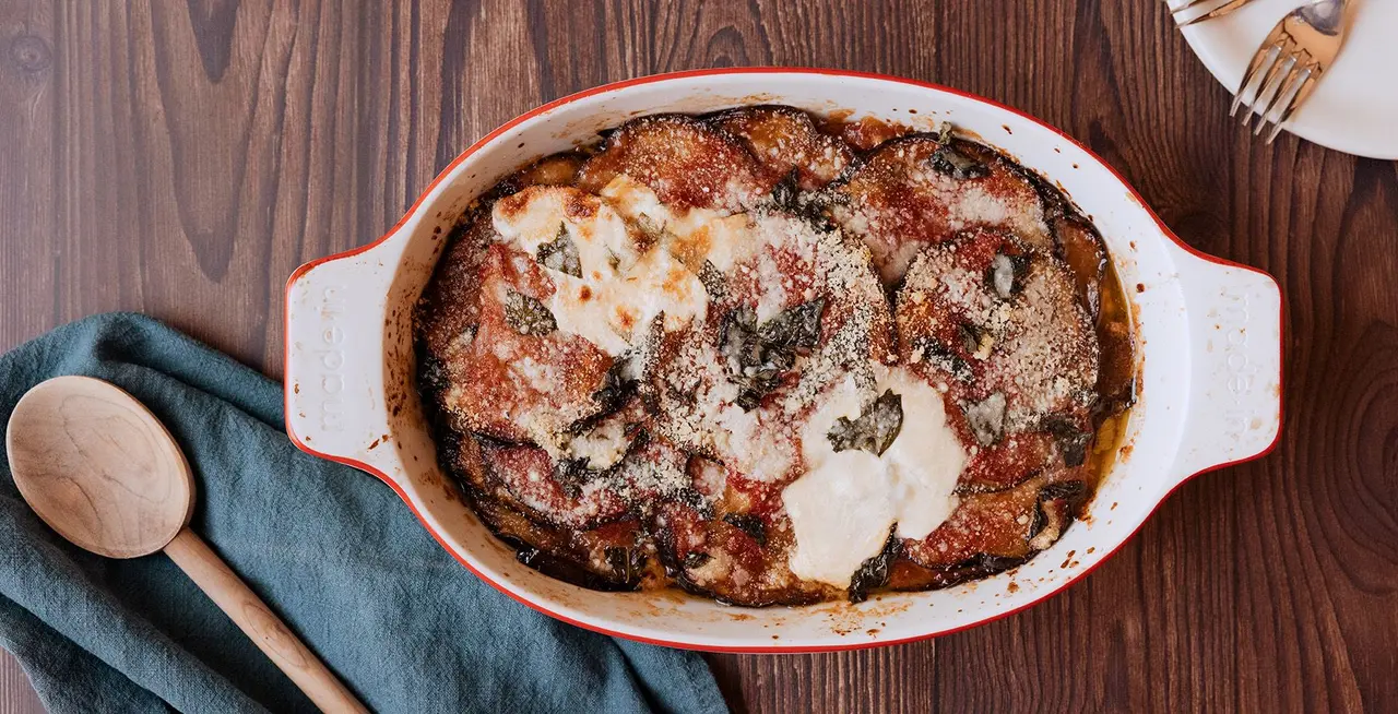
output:
[[[287,281],[287,433],[356,465],[390,433],[384,313],[396,261],[379,252],[308,263]]]

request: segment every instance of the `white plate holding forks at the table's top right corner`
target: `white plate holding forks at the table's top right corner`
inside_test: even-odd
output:
[[[1257,0],[1184,28],[1204,66],[1236,92],[1257,46],[1300,0]],[[1345,48],[1286,130],[1346,154],[1398,159],[1398,0],[1350,0]]]

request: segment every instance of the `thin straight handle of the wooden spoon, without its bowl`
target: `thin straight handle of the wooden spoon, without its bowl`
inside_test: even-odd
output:
[[[194,531],[183,528],[165,555],[281,668],[322,711],[363,711],[336,675],[274,615]]]

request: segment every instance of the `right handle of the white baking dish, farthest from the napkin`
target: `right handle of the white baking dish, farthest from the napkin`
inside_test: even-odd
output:
[[[1179,249],[1190,388],[1180,478],[1271,451],[1282,426],[1282,292],[1254,268]]]

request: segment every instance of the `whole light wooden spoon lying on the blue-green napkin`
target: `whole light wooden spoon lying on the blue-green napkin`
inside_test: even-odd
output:
[[[277,615],[189,530],[194,478],[165,426],[126,391],[55,377],[10,415],[10,471],[60,535],[108,558],[165,551],[323,711],[368,711]]]

